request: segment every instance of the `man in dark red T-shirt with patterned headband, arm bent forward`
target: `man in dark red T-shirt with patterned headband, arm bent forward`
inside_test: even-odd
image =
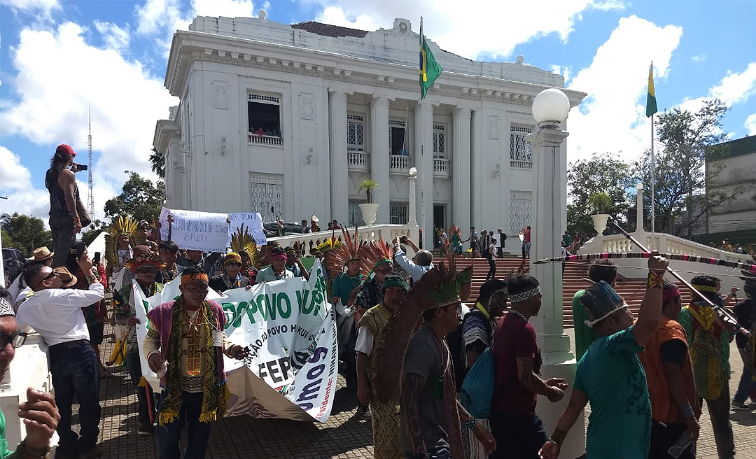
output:
[[[510,278],[510,312],[494,334],[494,399],[491,432],[499,445],[491,459],[536,459],[548,440],[535,414],[536,394],[559,402],[567,389],[562,378],[541,379],[541,349],[530,318],[541,309],[541,287],[529,274]]]

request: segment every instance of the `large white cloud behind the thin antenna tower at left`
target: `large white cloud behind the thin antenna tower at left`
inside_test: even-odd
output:
[[[149,157],[155,120],[175,98],[138,61],[89,45],[83,35],[76,23],[55,31],[22,30],[11,53],[18,100],[0,108],[0,135],[20,135],[35,144],[68,143],[82,154],[89,104],[93,147],[101,152],[94,169],[98,187],[119,188],[125,169],[154,178]]]

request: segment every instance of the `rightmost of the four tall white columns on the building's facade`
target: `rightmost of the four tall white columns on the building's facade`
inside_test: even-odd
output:
[[[451,151],[451,223],[466,237],[470,228],[470,110],[457,108],[452,113],[453,150]]]

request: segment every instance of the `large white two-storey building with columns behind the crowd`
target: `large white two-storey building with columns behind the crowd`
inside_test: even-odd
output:
[[[167,206],[354,225],[370,178],[377,223],[404,224],[415,220],[415,167],[426,234],[452,224],[518,232],[531,216],[531,102],[564,79],[522,57],[478,62],[429,42],[444,72],[420,103],[418,42],[401,18],[367,32],[197,17],[173,36],[165,85],[181,102],[154,136]],[[585,96],[565,93],[573,107]]]

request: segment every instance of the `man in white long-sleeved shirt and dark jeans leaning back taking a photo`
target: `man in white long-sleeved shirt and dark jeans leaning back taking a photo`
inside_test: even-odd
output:
[[[31,290],[16,315],[20,327],[37,330],[50,346],[50,372],[60,411],[57,459],[91,459],[101,455],[96,447],[100,434],[100,364],[89,344],[82,308],[103,299],[104,292],[92,273],[89,256],[82,256],[79,267],[90,284],[89,290],[64,290],[63,282],[51,267],[42,263],[30,266],[24,281]],[[79,402],[78,435],[71,430],[74,395]]]

